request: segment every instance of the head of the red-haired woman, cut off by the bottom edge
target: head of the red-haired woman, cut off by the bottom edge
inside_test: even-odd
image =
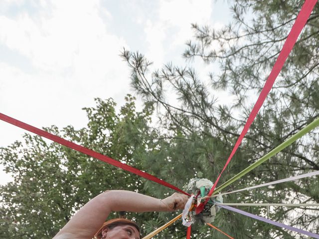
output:
[[[103,224],[95,239],[141,239],[140,228],[127,219],[112,219]]]

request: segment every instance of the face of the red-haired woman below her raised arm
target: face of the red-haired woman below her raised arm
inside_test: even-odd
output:
[[[106,239],[140,239],[140,233],[133,226],[121,225],[107,230]]]

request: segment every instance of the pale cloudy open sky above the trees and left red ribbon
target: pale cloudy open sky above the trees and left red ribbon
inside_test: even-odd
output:
[[[1,0],[0,113],[39,128],[83,127],[81,109],[94,98],[121,106],[135,95],[123,47],[143,53],[154,68],[183,65],[191,23],[217,28],[229,20],[227,2],[215,0]],[[202,77],[212,71],[191,64]],[[0,120],[0,147],[25,132]],[[0,167],[0,184],[9,180]]]

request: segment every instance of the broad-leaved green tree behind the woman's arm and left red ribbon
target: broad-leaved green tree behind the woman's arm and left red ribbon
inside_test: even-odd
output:
[[[137,112],[135,98],[129,95],[126,100],[116,114],[112,99],[96,99],[96,107],[84,108],[88,117],[84,128],[59,130],[53,125],[44,129],[144,169],[140,154],[152,150],[148,144],[153,137],[148,127],[152,108]],[[152,195],[139,176],[40,136],[25,134],[22,142],[1,148],[0,162],[13,177],[0,187],[0,238],[52,238],[77,210],[105,190]],[[153,213],[127,217],[141,222],[142,227],[150,218],[159,218]]]

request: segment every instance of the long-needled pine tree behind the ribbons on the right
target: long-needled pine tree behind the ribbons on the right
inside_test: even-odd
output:
[[[157,174],[162,175],[172,169],[172,165],[163,163],[167,155],[174,165],[171,172],[174,180],[187,182],[198,171],[211,180],[217,177],[302,3],[294,0],[235,0],[231,6],[231,24],[217,30],[193,24],[194,38],[187,42],[183,55],[186,60],[197,60],[199,57],[206,64],[218,63],[220,72],[210,73],[208,79],[200,79],[193,68],[173,64],[166,64],[152,72],[151,62],[142,54],[127,50],[122,52],[132,70],[134,89],[147,104],[158,109],[158,130],[165,135],[162,135],[164,139],[160,142],[161,155],[152,153],[149,156],[150,160],[156,157],[152,161],[152,169],[158,167]],[[220,184],[319,117],[318,46],[317,4]],[[214,92],[220,90],[227,91],[236,101],[232,105],[218,104]],[[172,104],[171,99],[178,102]],[[315,129],[227,190],[319,170],[318,142],[319,133]],[[225,200],[314,203],[319,201],[318,195],[318,179],[312,177],[230,195]],[[243,209],[257,215],[267,215],[265,208]],[[270,218],[319,233],[316,209],[274,208],[270,211]],[[302,237],[226,210],[217,215],[215,225],[235,238]],[[211,235],[214,238],[224,237],[204,226],[193,231],[199,238],[210,238]]]

